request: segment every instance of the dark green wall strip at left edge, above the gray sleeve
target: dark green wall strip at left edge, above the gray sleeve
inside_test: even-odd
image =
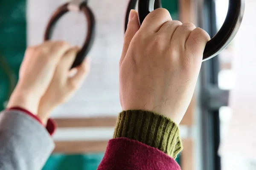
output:
[[[3,110],[3,102],[8,99],[9,91],[12,90],[10,77],[7,75],[14,73],[17,79],[26,50],[25,9],[25,0],[0,0],[0,110]],[[9,70],[8,73],[6,69]]]

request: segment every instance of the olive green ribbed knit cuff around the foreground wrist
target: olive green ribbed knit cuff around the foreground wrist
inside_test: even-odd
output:
[[[119,137],[137,140],[173,158],[182,150],[179,128],[175,122],[150,111],[119,113],[113,138]]]

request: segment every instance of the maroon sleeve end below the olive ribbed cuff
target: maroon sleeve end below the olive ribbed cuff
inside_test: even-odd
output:
[[[127,138],[116,138],[108,141],[97,170],[180,170],[180,166],[157,148]]]

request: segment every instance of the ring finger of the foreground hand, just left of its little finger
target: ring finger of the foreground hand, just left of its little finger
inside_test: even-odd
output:
[[[172,36],[172,47],[185,49],[186,40],[189,38],[190,33],[195,29],[192,23],[184,23],[177,27]]]

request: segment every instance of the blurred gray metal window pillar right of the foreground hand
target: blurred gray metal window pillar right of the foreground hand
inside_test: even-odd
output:
[[[215,0],[198,0],[198,24],[211,37],[217,32]],[[219,108],[227,106],[229,91],[218,88],[218,57],[203,62],[200,73],[199,102],[201,119],[201,154],[203,170],[221,170]]]

